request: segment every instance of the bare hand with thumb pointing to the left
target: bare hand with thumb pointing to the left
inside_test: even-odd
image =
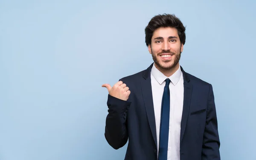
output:
[[[118,99],[122,99],[124,101],[127,101],[131,93],[129,87],[126,87],[126,84],[122,81],[118,81],[116,84],[113,85],[113,87],[111,87],[111,85],[109,84],[103,84],[102,87],[106,87],[108,89],[109,95]]]

